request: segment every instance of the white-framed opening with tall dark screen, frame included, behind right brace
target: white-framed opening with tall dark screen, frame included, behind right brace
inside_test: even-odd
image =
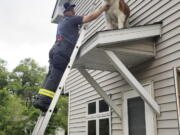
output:
[[[151,83],[146,84],[145,89],[153,93]],[[135,90],[125,92],[123,99],[124,135],[155,135],[156,116],[151,107]]]

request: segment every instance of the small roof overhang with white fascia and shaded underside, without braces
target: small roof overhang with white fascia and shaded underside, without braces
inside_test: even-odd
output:
[[[128,68],[136,66],[155,56],[160,35],[161,24],[97,32],[81,46],[73,67],[115,71],[104,50],[113,51]]]

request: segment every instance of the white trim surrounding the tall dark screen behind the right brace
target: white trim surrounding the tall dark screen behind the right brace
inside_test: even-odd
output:
[[[153,87],[152,84],[145,86],[145,89],[151,94],[153,94]],[[123,129],[124,135],[129,135],[129,128],[128,128],[128,108],[127,108],[127,100],[129,98],[140,97],[139,94],[135,91],[128,91],[123,94]],[[145,103],[145,120],[146,120],[146,135],[157,135],[157,128],[156,128],[156,115],[152,108]]]

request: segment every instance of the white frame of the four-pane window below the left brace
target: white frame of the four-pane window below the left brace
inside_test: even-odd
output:
[[[92,100],[87,102],[86,104],[86,135],[88,135],[88,121],[96,120],[96,135],[99,135],[99,121],[101,119],[109,119],[109,135],[111,135],[111,108],[109,107],[109,111],[99,113],[99,101],[104,100],[102,98]],[[95,114],[88,114],[88,104],[96,102],[96,113]]]

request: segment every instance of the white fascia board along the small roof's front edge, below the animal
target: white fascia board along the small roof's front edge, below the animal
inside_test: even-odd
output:
[[[153,24],[153,25],[146,25],[141,27],[132,27],[128,29],[108,30],[108,31],[98,32],[97,35],[92,36],[90,38],[90,41],[87,41],[82,46],[78,58],[83,57],[93,48],[99,47],[101,45],[105,47],[105,46],[111,46],[115,43],[129,42],[129,41],[160,36],[161,27],[162,27],[161,24]]]

